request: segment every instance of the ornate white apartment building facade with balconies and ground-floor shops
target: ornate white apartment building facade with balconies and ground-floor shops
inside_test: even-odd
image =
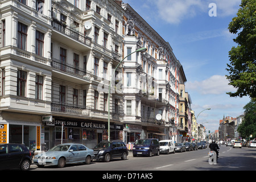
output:
[[[61,142],[92,148],[108,139],[108,109],[110,139],[179,141],[183,68],[170,44],[130,5],[0,3],[1,143],[24,143],[36,151]],[[141,47],[147,52],[122,60]]]

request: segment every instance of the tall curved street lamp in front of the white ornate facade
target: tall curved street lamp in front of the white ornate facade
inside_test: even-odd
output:
[[[139,48],[137,49],[136,51],[134,52],[131,52],[129,55],[127,55],[126,57],[130,56],[131,54],[135,53],[135,52],[146,52],[147,51],[147,48],[145,47],[142,47],[142,48]],[[113,76],[115,74],[115,71],[117,70],[117,68],[119,67],[119,65],[122,63],[123,60],[126,59],[126,57],[124,57],[120,63],[118,63],[117,67],[115,67],[115,70],[114,72],[112,73],[112,77],[110,79],[110,82],[109,82],[109,95],[108,95],[108,141],[110,141],[110,87],[111,87],[111,84],[112,84],[112,79],[113,79]]]

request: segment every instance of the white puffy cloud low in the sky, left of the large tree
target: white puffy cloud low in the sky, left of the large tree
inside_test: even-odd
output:
[[[233,86],[228,85],[229,81],[225,76],[213,75],[203,81],[187,82],[187,90],[198,90],[199,93],[205,94],[225,94],[226,92],[236,91]]]

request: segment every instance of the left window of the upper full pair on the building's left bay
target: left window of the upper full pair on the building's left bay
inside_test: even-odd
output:
[[[18,48],[27,50],[27,26],[18,23]]]

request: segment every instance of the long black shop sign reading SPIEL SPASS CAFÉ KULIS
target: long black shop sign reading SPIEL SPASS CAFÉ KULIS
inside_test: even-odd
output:
[[[97,122],[86,122],[86,121],[68,121],[64,119],[55,119],[52,118],[52,122],[46,122],[47,126],[61,126],[64,127],[80,127],[86,129],[108,129],[108,126],[104,123]],[[123,130],[122,125],[110,125],[112,130]]]

